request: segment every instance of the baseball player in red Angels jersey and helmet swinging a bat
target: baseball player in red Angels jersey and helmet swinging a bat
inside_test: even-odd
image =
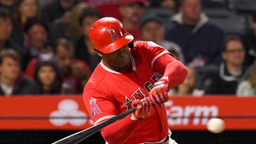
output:
[[[106,144],[177,144],[170,138],[164,102],[169,87],[185,80],[186,67],[154,42],[133,43],[116,18],[97,20],[89,38],[102,58],[83,93],[94,124],[137,106],[134,113],[101,129]]]

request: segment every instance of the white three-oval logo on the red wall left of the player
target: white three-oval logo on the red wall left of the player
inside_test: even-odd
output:
[[[50,113],[50,117],[50,122],[55,126],[64,126],[67,123],[70,123],[73,126],[82,126],[87,122],[86,113],[79,111],[78,103],[70,99],[60,101],[58,104],[58,110]],[[93,122],[90,123],[93,124]]]

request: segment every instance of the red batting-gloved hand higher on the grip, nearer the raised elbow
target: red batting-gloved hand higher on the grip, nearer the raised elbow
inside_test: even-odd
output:
[[[161,104],[168,101],[168,80],[160,79],[154,84],[153,89],[149,92],[150,100],[154,106],[161,107]]]

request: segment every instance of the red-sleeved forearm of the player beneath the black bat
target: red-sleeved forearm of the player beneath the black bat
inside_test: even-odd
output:
[[[139,126],[141,119],[133,121],[130,119],[131,114],[127,117],[110,124],[101,130],[103,138],[109,144],[123,144],[133,134],[135,129]]]

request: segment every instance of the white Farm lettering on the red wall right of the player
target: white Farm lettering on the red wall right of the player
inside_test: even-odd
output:
[[[168,101],[165,103],[165,106],[167,116],[169,117],[168,124],[170,126],[187,126],[188,124],[206,125],[208,119],[217,117],[219,112],[218,107],[215,105],[187,105],[183,107],[179,105],[174,105],[173,101]],[[181,118],[182,116],[185,118]],[[188,118],[190,116],[194,116],[194,118]],[[203,118],[200,118],[201,116]]]

